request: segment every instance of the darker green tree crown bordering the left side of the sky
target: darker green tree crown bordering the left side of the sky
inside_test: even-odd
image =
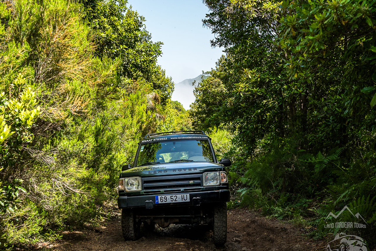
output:
[[[94,54],[100,58],[118,58],[118,75],[143,78],[152,84],[153,90],[167,104],[174,90],[170,77],[158,66],[157,58],[162,55],[161,42],[152,42],[145,29],[144,17],[127,8],[126,0],[83,1],[85,20],[93,31]]]

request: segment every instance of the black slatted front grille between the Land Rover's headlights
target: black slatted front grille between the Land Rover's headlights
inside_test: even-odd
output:
[[[200,191],[202,175],[154,176],[142,178],[145,194]]]

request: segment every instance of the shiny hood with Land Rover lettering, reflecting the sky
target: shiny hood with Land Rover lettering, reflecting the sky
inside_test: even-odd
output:
[[[121,172],[120,177],[188,175],[222,170],[224,170],[224,168],[221,164],[211,162],[161,163],[128,169]]]

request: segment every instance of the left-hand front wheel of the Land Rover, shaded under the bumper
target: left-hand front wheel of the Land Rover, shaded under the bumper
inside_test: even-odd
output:
[[[121,231],[126,241],[139,238],[140,224],[137,223],[133,210],[127,208],[121,210]]]

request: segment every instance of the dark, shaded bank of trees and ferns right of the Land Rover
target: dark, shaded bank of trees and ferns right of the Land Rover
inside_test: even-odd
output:
[[[375,245],[375,1],[204,2],[226,55],[196,87],[191,116],[234,135],[239,203],[318,237],[344,231],[325,218],[348,205],[368,225],[345,230]]]

